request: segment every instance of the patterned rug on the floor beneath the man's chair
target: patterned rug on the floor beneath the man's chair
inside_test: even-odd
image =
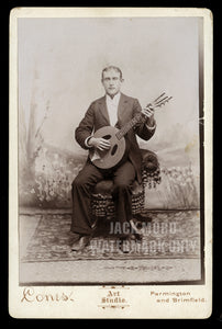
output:
[[[25,215],[22,215],[25,216]],[[38,225],[22,262],[75,261],[95,259],[168,259],[200,257],[200,213],[198,211],[148,212],[152,220],[135,223],[141,241],[125,242],[123,253],[116,225],[109,223],[97,230],[82,251],[71,251],[70,214],[41,214]],[[37,219],[37,218],[36,218]],[[109,231],[110,230],[110,231]]]

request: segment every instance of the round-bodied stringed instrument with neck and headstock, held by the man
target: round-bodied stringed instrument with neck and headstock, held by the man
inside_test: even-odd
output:
[[[149,103],[146,107],[153,106],[153,109],[165,105],[173,97],[167,97],[166,93],[162,93],[157,99]],[[129,123],[126,123],[121,129],[112,126],[104,126],[98,129],[93,137],[104,138],[109,140],[110,148],[106,150],[90,149],[89,158],[91,162],[100,169],[110,169],[116,166],[124,156],[125,152],[125,138],[130,129],[132,129],[138,122],[145,123],[147,117],[143,113],[136,114]]]

